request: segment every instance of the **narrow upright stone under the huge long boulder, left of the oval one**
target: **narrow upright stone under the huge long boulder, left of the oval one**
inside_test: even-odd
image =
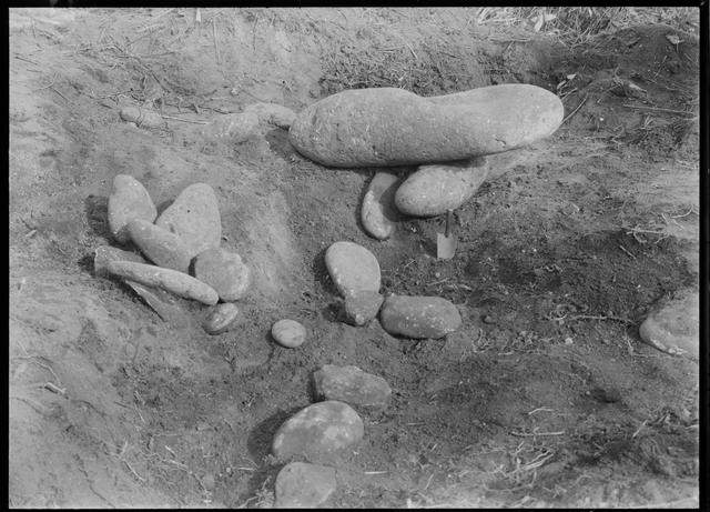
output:
[[[361,209],[365,232],[377,240],[387,240],[395,232],[399,212],[395,208],[396,174],[377,172],[367,187]]]

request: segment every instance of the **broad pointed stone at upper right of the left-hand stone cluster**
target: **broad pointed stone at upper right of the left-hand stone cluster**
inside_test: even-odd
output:
[[[214,190],[206,183],[191,184],[161,213],[155,225],[182,238],[191,258],[220,247],[222,218]]]

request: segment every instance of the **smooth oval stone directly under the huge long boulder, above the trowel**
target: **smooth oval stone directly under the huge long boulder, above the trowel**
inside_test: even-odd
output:
[[[468,201],[487,177],[485,157],[419,165],[397,189],[395,205],[407,215],[440,215]]]

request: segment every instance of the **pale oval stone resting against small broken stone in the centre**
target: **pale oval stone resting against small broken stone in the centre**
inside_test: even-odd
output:
[[[325,267],[344,298],[362,290],[379,291],[381,273],[377,258],[357,243],[333,243],[325,251]]]

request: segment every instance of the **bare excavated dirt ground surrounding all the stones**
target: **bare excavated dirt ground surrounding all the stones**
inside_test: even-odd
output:
[[[10,506],[268,506],[273,433],[327,363],[394,390],[333,462],[328,506],[698,506],[698,361],[638,337],[659,300],[698,289],[696,36],[638,26],[572,47],[475,9],[201,11],[10,10]],[[364,233],[374,169],[321,167],[275,127],[201,134],[257,101],[505,82],[556,91],[568,119],[491,157],[450,261],[434,257],[444,218]],[[168,324],[94,275],[119,173],[161,211],[214,188],[222,244],[254,271],[237,329],[209,335],[189,301]],[[385,292],[452,300],[463,328],[413,341],[339,322],[323,262],[338,240],[377,257]],[[285,317],[308,330],[297,350],[268,334]]]

